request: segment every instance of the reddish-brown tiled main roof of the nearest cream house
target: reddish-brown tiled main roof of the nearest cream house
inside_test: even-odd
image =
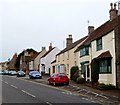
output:
[[[90,44],[91,41],[94,41],[97,38],[100,38],[106,35],[107,33],[109,33],[110,31],[114,30],[116,26],[118,26],[119,21],[120,21],[120,15],[115,19],[113,19],[112,21],[107,21],[106,23],[98,27],[96,30],[94,30],[82,45],[88,45]]]

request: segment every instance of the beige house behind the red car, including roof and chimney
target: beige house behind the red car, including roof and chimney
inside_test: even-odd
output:
[[[70,69],[77,65],[75,49],[87,38],[84,37],[73,43],[72,35],[66,39],[66,48],[56,55],[56,60],[51,63],[52,73],[64,72],[70,77]]]

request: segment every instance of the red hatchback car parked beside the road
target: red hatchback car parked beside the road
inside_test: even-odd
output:
[[[65,73],[54,73],[48,78],[48,84],[53,84],[54,86],[58,84],[69,85],[69,78]]]

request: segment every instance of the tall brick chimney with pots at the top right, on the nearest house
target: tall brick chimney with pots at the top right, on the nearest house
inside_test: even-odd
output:
[[[113,8],[113,3],[110,3],[111,9],[109,11],[110,13],[110,20],[113,20],[118,16],[118,10],[116,10],[116,3],[114,3],[114,8]]]

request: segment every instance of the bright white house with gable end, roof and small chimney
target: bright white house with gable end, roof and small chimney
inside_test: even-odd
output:
[[[60,50],[57,47],[52,47],[50,43],[49,50],[40,58],[40,72],[45,72],[45,74],[51,74],[51,62],[55,60],[56,54]]]

